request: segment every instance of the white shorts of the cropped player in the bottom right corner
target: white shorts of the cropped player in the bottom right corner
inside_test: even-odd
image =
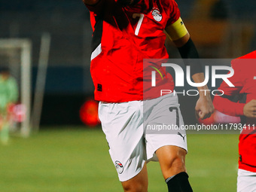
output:
[[[255,192],[256,191],[256,172],[249,172],[244,169],[238,169],[237,192]]]

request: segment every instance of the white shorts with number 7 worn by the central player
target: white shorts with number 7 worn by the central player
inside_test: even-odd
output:
[[[160,147],[175,145],[187,151],[184,130],[166,132],[163,126],[161,130],[148,126],[184,124],[178,97],[172,94],[144,102],[99,102],[99,119],[120,181],[136,176],[147,160],[157,160],[155,151]]]

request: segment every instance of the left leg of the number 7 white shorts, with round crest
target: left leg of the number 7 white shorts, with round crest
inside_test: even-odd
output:
[[[142,102],[100,103],[99,119],[119,180],[135,177],[146,160]]]

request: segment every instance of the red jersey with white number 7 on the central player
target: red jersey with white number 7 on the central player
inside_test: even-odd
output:
[[[115,0],[100,0],[87,8],[93,26],[90,71],[95,99],[142,100],[143,59],[169,58],[163,31],[180,17],[178,5],[174,0],[140,0],[123,7]],[[164,81],[173,90],[172,78]]]

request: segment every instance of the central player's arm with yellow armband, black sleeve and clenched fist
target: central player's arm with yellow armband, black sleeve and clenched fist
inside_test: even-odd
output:
[[[184,26],[183,21],[179,18],[175,23],[166,27],[166,34],[173,41],[176,47],[178,47],[181,57],[186,58],[199,58],[197,49],[194,46],[193,41],[190,38],[189,33],[187,32],[186,27]],[[191,74],[193,81],[195,83],[202,83],[204,81],[203,72],[200,72],[200,66],[192,66]],[[214,111],[214,106],[212,104],[212,99],[209,92],[200,91],[200,90],[209,90],[207,85],[203,87],[197,87],[200,92],[200,98],[197,101],[196,105],[196,115],[201,119],[210,117]]]

